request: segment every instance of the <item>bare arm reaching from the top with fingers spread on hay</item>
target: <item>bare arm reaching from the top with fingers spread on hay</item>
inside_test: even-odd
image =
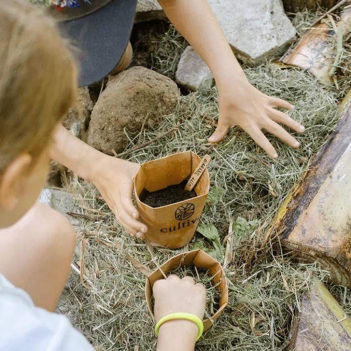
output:
[[[271,157],[277,153],[261,129],[292,147],[299,143],[278,123],[303,132],[304,127],[274,107],[292,109],[279,98],[254,88],[241,69],[206,0],[158,0],[165,14],[211,69],[220,97],[219,121],[210,142],[222,140],[230,126],[240,125]],[[278,123],[276,123],[278,122]]]

